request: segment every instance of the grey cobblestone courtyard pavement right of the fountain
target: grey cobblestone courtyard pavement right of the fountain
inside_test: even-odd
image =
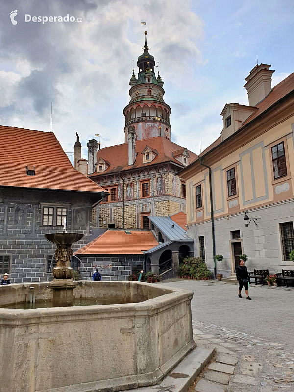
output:
[[[252,301],[247,301],[245,295],[238,298],[234,284],[190,280],[161,284],[195,292],[196,343],[217,348],[195,391],[294,392],[294,288],[257,285],[250,287]]]

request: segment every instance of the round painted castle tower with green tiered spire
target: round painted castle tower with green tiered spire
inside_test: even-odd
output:
[[[154,72],[154,57],[147,46],[145,31],[144,53],[138,58],[138,78],[133,74],[130,80],[131,100],[123,109],[125,117],[125,143],[129,130],[135,130],[137,140],[162,136],[171,140],[170,113],[172,109],[164,100],[163,81]]]

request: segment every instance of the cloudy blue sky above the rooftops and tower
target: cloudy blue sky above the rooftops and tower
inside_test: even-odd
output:
[[[95,134],[101,148],[124,142],[145,27],[172,141],[196,153],[220,136],[226,103],[248,104],[256,56],[275,70],[272,86],[294,72],[292,0],[0,0],[0,11],[0,124],[50,131],[52,101],[52,131],[71,160],[76,132],[84,158]]]

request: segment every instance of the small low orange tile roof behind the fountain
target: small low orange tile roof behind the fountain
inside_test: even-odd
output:
[[[107,230],[74,254],[143,254],[158,245],[150,231]]]

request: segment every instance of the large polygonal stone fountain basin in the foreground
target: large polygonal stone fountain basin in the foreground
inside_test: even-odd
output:
[[[47,283],[2,286],[0,306],[24,302]],[[7,391],[119,391],[156,384],[196,344],[193,292],[138,282],[79,281],[75,298],[115,305],[0,308],[0,379]],[[140,300],[141,302],[138,302]]]

